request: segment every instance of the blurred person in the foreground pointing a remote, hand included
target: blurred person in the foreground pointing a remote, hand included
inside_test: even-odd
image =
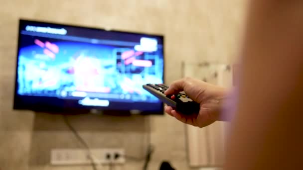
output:
[[[225,170],[303,170],[303,1],[251,0],[239,56],[233,92],[178,80],[165,94],[184,90],[200,112],[165,111],[198,127],[230,120]]]

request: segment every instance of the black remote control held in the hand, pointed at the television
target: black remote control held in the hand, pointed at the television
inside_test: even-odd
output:
[[[177,94],[165,95],[164,91],[168,86],[163,84],[147,84],[143,85],[143,88],[152,93],[163,103],[173,107],[176,111],[181,112],[184,115],[199,112],[200,104],[189,98],[183,91]]]

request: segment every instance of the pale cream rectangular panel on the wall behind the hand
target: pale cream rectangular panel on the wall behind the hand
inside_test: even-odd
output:
[[[182,63],[182,76],[211,84],[232,86],[232,68],[224,63]],[[186,126],[189,164],[191,167],[222,167],[224,164],[225,122],[215,122],[205,128]]]

